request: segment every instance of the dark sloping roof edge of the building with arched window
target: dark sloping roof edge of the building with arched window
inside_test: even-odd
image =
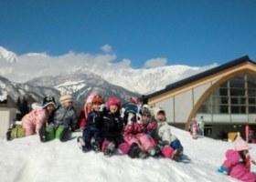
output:
[[[250,62],[250,63],[256,65],[256,63],[254,61],[252,61],[249,56],[242,56],[240,58],[229,61],[228,63],[223,64],[221,66],[217,66],[217,67],[208,69],[207,71],[204,71],[204,72],[199,73],[197,75],[189,76],[189,77],[187,77],[185,79],[182,79],[180,81],[177,81],[173,84],[167,85],[162,90],[159,90],[159,91],[156,91],[155,93],[144,96],[144,99],[164,94],[165,92],[171,91],[171,90],[176,89],[176,88],[181,87],[181,86],[185,86],[185,85],[187,85],[191,82],[197,81],[198,79],[201,79],[201,78],[206,77],[206,76],[211,76],[213,74],[217,74],[220,71],[228,69],[232,66],[238,66],[238,65],[240,65],[242,63],[245,63],[245,62]]]

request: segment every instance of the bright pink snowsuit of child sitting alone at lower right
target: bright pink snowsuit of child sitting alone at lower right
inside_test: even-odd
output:
[[[256,175],[251,173],[244,163],[240,162],[240,154],[236,150],[229,149],[226,152],[226,160],[222,167],[228,169],[230,177],[240,179],[246,182],[255,182]]]

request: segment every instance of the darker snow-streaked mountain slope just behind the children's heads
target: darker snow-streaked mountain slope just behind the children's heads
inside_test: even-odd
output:
[[[75,97],[76,103],[80,105],[91,92],[101,93],[105,99],[110,96],[118,96],[123,102],[129,100],[131,96],[140,96],[121,86],[114,86],[102,79],[101,76],[91,73],[42,76],[28,81],[27,85],[54,87],[60,93],[68,92]]]

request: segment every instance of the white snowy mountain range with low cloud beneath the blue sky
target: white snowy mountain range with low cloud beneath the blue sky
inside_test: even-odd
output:
[[[2,51],[0,49],[0,55],[1,52],[4,53],[2,53],[4,58],[0,58],[0,75],[12,81],[25,82],[35,76],[93,73],[101,76],[102,79],[112,85],[123,86],[139,94],[154,92],[177,80],[217,66],[216,64],[210,66],[176,65],[135,69],[131,66],[129,59],[124,58],[118,61],[113,53],[92,55],[69,52],[62,56],[48,56],[46,53],[27,53],[16,56],[3,47]]]

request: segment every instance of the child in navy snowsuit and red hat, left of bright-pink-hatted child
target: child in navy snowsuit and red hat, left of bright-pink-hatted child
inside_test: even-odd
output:
[[[82,132],[82,136],[79,136],[78,146],[83,152],[89,151],[91,148],[99,152],[101,150],[101,105],[104,100],[101,95],[96,95],[92,99],[92,111],[88,116],[88,123]]]

